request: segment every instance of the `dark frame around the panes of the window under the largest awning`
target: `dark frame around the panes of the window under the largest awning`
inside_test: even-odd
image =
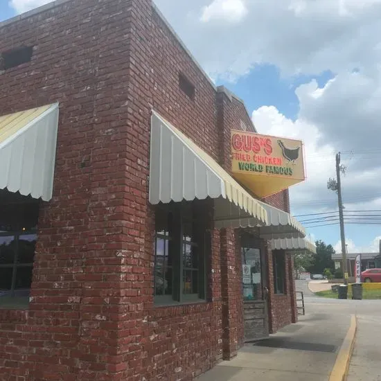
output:
[[[186,206],[190,206],[190,212],[193,213],[192,218],[189,218],[186,213]],[[164,209],[167,215],[172,213],[172,237],[169,238],[168,242],[168,256],[169,250],[171,249],[174,253],[172,256],[172,294],[156,294],[156,274],[157,274],[157,238],[160,234],[157,233],[156,227],[154,232],[154,305],[178,305],[186,303],[204,303],[206,302],[206,257],[209,256],[209,250],[206,245],[208,239],[206,236],[209,234],[208,229],[206,229],[204,224],[200,224],[197,220],[197,212],[195,217],[195,202],[181,202],[172,203],[170,205],[161,205],[157,208]],[[199,216],[200,217],[200,216]],[[204,220],[204,218],[202,218]],[[184,240],[184,225],[194,224],[197,222],[198,232],[200,236],[197,236],[197,242]],[[168,228],[168,230],[170,230]],[[202,233],[200,233],[200,231]],[[209,238],[211,239],[211,237]],[[198,268],[190,268],[184,266],[184,249],[186,245],[191,247],[197,247],[199,249],[197,253],[197,264]],[[177,253],[177,254],[176,254]],[[190,270],[192,272],[197,270],[197,293],[184,294],[184,271]],[[164,273],[165,276],[165,273]]]

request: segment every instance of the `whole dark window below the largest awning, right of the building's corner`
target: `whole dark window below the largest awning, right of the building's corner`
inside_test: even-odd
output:
[[[204,299],[205,239],[193,203],[156,211],[154,296],[156,303]]]

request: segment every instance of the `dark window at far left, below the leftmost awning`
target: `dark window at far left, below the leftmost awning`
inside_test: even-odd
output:
[[[21,196],[19,200],[12,198],[12,202],[0,204],[0,306],[2,307],[28,303],[37,241],[38,203]]]

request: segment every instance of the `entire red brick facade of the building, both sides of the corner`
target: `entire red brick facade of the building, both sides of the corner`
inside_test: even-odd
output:
[[[150,0],[62,1],[0,25],[0,52],[21,45],[35,46],[33,59],[0,72],[0,115],[58,102],[60,123],[30,305],[0,309],[0,380],[190,380],[236,355],[233,229],[212,232],[207,303],[154,306],[150,114],[229,170],[231,128],[253,128],[245,106],[213,87]],[[195,100],[179,89],[179,71]],[[290,209],[287,191],[266,202]],[[271,269],[270,251],[270,278]],[[285,296],[270,292],[272,331],[296,320],[287,279]]]

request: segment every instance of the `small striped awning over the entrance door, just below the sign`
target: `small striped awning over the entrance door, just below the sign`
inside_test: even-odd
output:
[[[281,211],[264,202],[260,202],[267,211],[268,222],[264,227],[260,227],[260,236],[271,240],[279,238],[304,238],[305,229],[303,225],[292,217],[290,213]]]

